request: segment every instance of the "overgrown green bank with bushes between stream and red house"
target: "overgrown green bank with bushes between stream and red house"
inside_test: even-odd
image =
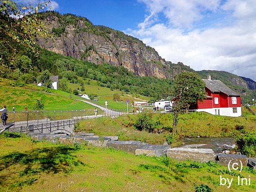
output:
[[[118,136],[119,140],[151,144],[167,142],[171,145],[181,144],[178,141],[181,137],[235,137],[240,141],[239,151],[249,157],[255,156],[255,117],[226,117],[194,112],[178,116],[177,134],[171,133],[172,126],[173,114],[142,113],[115,119],[104,117],[84,120],[77,124],[76,131]],[[247,145],[250,145],[250,149]]]

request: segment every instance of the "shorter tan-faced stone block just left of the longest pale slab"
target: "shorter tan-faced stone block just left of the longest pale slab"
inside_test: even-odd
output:
[[[168,145],[151,145],[146,144],[135,150],[135,155],[143,155],[146,156],[166,156],[166,151],[170,148]]]

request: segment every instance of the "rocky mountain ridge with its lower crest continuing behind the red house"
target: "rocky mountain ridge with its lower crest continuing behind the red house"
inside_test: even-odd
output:
[[[49,11],[42,12],[41,19],[49,32],[54,34],[54,40],[38,38],[37,44],[62,55],[96,64],[123,66],[139,76],[173,79],[182,71],[194,71],[202,78],[211,74],[213,79],[223,81],[239,93],[246,92],[246,89],[255,90],[256,87],[256,82],[246,77],[222,71],[195,71],[182,62],[165,61],[154,48],[146,46],[138,38],[109,27],[94,26],[84,17]]]

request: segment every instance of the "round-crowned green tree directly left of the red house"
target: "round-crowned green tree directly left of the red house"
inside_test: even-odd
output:
[[[178,123],[178,114],[185,111],[188,112],[191,104],[196,104],[198,100],[205,97],[205,83],[198,74],[193,72],[182,72],[176,75],[172,88],[172,95],[175,97],[174,123],[173,131],[176,131]]]

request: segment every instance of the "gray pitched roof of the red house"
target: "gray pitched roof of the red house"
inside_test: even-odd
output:
[[[231,90],[220,80],[208,80],[208,79],[202,79],[202,80],[205,83],[205,87],[208,88],[213,93],[222,92],[228,96],[240,96],[238,93]]]

